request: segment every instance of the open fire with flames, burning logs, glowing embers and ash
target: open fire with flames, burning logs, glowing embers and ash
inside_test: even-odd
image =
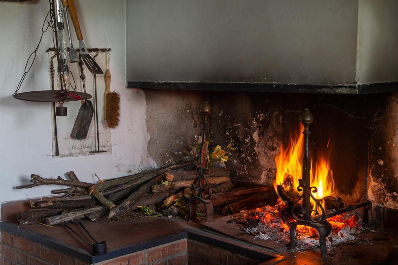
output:
[[[238,219],[246,225],[246,232],[253,234],[262,240],[275,240],[277,242],[289,243],[289,228],[296,220],[290,214],[290,208],[295,207],[294,202],[300,197],[298,192],[299,179],[302,179],[302,154],[304,151],[304,126],[300,124],[298,131],[291,132],[289,142],[286,146],[281,144],[279,155],[275,158],[277,173],[274,181],[275,191],[279,197],[274,206],[265,206],[255,210],[243,211]],[[333,171],[330,168],[330,142],[324,152],[320,152],[316,161],[310,160],[310,186],[318,188],[314,197],[319,200],[322,207],[329,211],[338,208],[330,207],[330,198],[339,200],[338,207],[343,207],[341,198],[334,195]],[[328,201],[328,205],[325,202]],[[300,201],[297,204],[300,206]],[[320,208],[311,200],[312,216],[320,213]],[[299,211],[297,211],[299,212]],[[361,218],[354,214],[343,213],[327,219],[332,226],[332,233],[326,238],[328,247],[339,243],[355,240],[354,234],[363,230]],[[298,225],[297,226],[298,249],[314,248],[319,246],[319,236],[316,229]]]

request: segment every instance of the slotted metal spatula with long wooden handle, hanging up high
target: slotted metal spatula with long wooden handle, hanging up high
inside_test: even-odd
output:
[[[79,54],[82,57],[84,64],[86,64],[88,70],[90,70],[92,74],[103,74],[100,66],[97,64],[94,58],[91,57],[91,55],[87,51],[86,46],[84,45],[83,34],[82,30],[80,29],[79,19],[77,18],[74,1],[73,0],[63,0],[63,1],[64,1],[64,6],[67,6],[68,11],[70,12],[70,18],[72,19],[73,26],[76,31],[76,36],[77,39],[79,40],[79,46],[80,46]]]

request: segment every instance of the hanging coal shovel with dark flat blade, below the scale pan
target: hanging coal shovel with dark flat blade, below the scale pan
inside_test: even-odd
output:
[[[84,83],[86,76],[83,72],[83,60],[81,56],[79,57],[79,68],[80,79],[82,79],[83,83],[83,92],[86,93],[86,84]],[[80,106],[79,113],[77,114],[76,121],[72,128],[72,133],[70,133],[70,138],[76,140],[86,139],[93,115],[93,103],[90,100],[85,99],[84,103]]]

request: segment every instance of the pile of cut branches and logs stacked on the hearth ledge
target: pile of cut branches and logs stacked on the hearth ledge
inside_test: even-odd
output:
[[[164,214],[168,217],[187,218],[189,198],[196,196],[191,184],[197,178],[195,156],[187,156],[178,163],[168,164],[156,170],[143,171],[125,177],[100,180],[98,183],[80,181],[73,171],[68,179],[47,179],[31,175],[31,184],[17,189],[39,185],[63,185],[67,188],[53,190],[60,197],[47,197],[31,201],[31,209],[17,215],[19,224],[47,225],[89,218],[117,220],[128,212],[140,211],[150,216]],[[209,168],[205,174],[213,190],[214,207],[223,207],[222,214],[233,214],[254,206],[269,196],[270,187],[246,190],[235,188],[227,167]],[[197,219],[205,219],[205,205],[197,205]]]

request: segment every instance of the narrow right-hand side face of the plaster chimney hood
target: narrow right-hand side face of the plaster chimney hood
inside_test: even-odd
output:
[[[398,1],[359,0],[358,84],[398,81]]]

